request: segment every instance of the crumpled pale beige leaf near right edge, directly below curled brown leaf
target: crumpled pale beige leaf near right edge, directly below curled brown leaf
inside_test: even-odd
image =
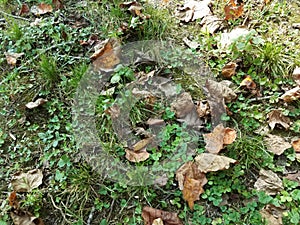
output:
[[[281,155],[286,149],[291,148],[291,144],[286,142],[282,137],[269,134],[264,138],[267,150],[276,155]]]

